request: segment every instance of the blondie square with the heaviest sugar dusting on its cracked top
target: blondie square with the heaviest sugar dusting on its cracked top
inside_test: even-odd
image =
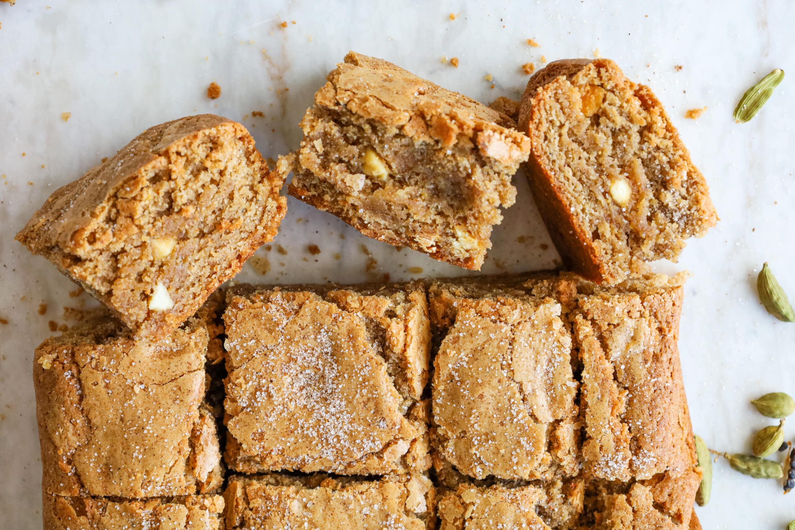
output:
[[[227,294],[225,458],[234,470],[424,471],[425,289],[236,286]]]

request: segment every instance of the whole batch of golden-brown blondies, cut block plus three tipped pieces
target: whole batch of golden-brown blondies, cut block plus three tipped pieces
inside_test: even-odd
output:
[[[575,63],[517,126],[351,52],[276,171],[202,115],[56,191],[17,239],[105,307],[36,350],[45,528],[699,528],[684,277],[643,262],[715,212],[651,92]],[[222,286],[291,171],[364,234],[479,269],[525,161],[582,276]]]

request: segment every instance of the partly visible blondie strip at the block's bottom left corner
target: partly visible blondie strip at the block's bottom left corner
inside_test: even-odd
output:
[[[145,501],[44,496],[47,530],[223,530],[223,497],[195,495]]]

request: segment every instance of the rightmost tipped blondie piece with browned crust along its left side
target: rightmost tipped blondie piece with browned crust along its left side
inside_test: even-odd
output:
[[[560,60],[530,78],[519,129],[530,187],[566,264],[609,284],[676,261],[718,218],[704,176],[649,87],[611,60]]]

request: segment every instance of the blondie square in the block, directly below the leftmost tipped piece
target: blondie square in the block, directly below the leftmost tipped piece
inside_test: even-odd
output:
[[[157,343],[135,341],[100,313],[37,348],[45,497],[171,497],[222,486],[205,369],[218,329],[208,323],[215,309],[203,310]]]

